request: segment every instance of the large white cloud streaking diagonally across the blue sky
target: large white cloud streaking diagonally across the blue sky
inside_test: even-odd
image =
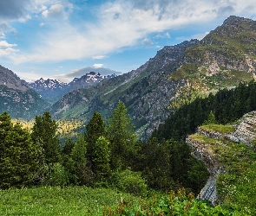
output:
[[[62,22],[57,25],[55,22],[48,23],[54,30],[39,35],[29,51],[13,56],[16,63],[102,59],[111,52],[134,46],[140,41],[148,46],[151,42],[152,45],[153,42],[148,39],[152,33],[204,24],[231,13],[246,16],[246,12],[252,14],[256,10],[255,0],[116,0],[102,4],[95,11],[97,17],[93,22],[75,27],[67,19],[73,10],[72,4],[61,0],[52,1],[51,6],[47,0],[36,0],[36,3],[41,5],[38,10],[43,11],[45,18],[62,17]],[[169,33],[159,35],[163,36],[170,37]]]

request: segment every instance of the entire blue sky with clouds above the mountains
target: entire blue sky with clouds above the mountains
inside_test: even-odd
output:
[[[0,0],[0,65],[27,81],[128,73],[228,16],[255,20],[256,1]]]

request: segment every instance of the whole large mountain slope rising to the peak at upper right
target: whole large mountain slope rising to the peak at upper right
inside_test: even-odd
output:
[[[69,93],[50,111],[56,118],[89,119],[93,111],[106,117],[122,100],[138,133],[148,137],[173,108],[254,79],[255,47],[256,22],[230,16],[203,40],[162,48],[138,69]]]

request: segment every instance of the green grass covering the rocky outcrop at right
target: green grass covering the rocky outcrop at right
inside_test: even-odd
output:
[[[214,131],[232,131],[230,125],[204,125]],[[218,175],[217,191],[221,206],[242,215],[256,215],[256,152],[245,143],[234,143],[194,134],[226,173]]]

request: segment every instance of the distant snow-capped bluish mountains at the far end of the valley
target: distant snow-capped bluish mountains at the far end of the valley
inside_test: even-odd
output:
[[[83,75],[81,78],[75,78],[69,83],[63,83],[57,79],[38,79],[35,82],[26,83],[26,86],[34,89],[43,99],[54,104],[68,92],[75,91],[81,88],[89,88],[95,86],[103,79],[115,77],[115,74],[103,76],[100,73],[90,72]]]

